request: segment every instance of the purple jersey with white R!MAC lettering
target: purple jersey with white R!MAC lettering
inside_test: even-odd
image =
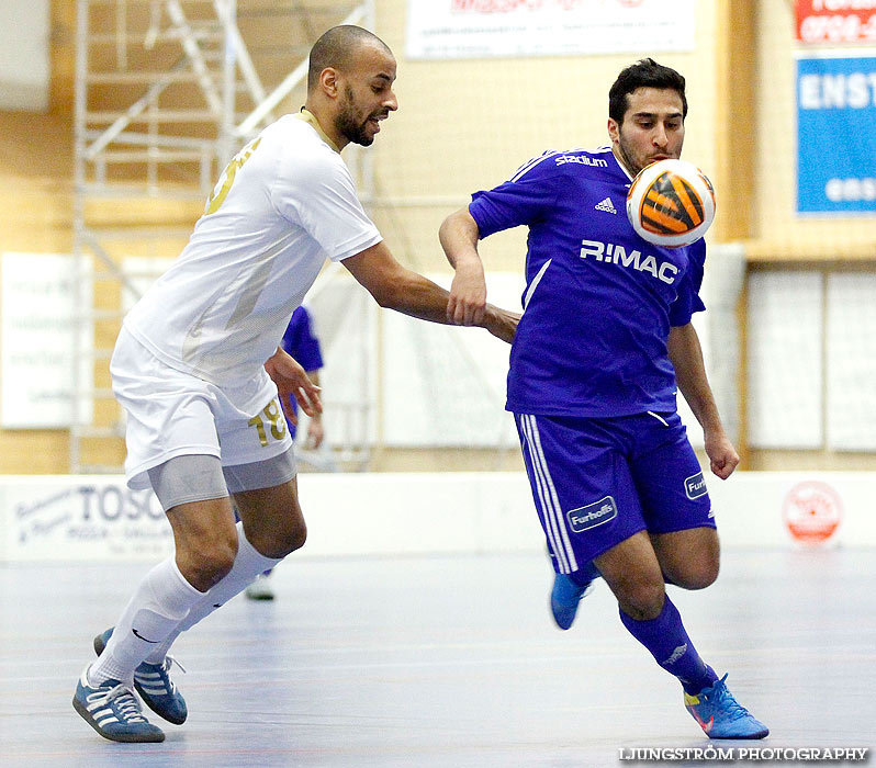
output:
[[[529,227],[524,315],[506,408],[553,416],[675,410],[671,326],[705,309],[706,246],[660,248],[625,213],[631,179],[609,148],[549,151],[472,195],[481,237]]]

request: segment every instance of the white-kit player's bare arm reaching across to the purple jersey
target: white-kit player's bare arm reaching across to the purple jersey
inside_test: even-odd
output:
[[[341,263],[380,306],[431,323],[454,323],[447,312],[450,294],[431,280],[400,264],[384,242],[344,259]],[[493,336],[510,343],[517,320],[519,315],[516,313],[486,304],[482,319],[473,325],[486,328]]]

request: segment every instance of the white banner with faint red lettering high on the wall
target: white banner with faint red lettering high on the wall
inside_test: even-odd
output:
[[[695,0],[407,0],[412,59],[693,50]]]

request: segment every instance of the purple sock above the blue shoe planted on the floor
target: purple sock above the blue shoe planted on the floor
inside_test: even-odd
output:
[[[678,678],[687,693],[699,693],[718,679],[715,670],[699,657],[669,595],[656,619],[637,621],[620,611],[620,621],[661,667]]]

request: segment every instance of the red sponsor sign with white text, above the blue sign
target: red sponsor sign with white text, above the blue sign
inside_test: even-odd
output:
[[[876,0],[797,0],[800,43],[876,43]]]

